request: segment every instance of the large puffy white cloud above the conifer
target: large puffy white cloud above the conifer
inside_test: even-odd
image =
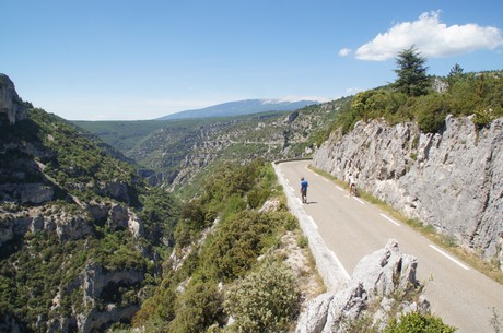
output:
[[[422,56],[435,58],[463,55],[478,49],[494,50],[503,45],[502,32],[477,24],[447,26],[440,11],[422,13],[419,20],[402,22],[378,34],[355,51],[356,59],[383,61],[414,46]],[[341,50],[342,51],[342,50]],[[339,52],[340,55],[340,52]]]

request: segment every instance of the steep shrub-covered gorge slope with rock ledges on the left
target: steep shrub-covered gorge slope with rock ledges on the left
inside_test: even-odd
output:
[[[69,122],[16,105],[0,122],[0,331],[127,322],[161,273],[174,202]]]

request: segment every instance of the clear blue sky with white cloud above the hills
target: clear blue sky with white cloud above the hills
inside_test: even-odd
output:
[[[69,120],[141,120],[248,98],[335,99],[503,69],[503,1],[0,0],[0,73]]]

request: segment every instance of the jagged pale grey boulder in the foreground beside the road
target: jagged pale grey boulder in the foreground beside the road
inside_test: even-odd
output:
[[[371,316],[382,330],[379,325],[397,313],[390,309],[425,312],[430,305],[417,293],[417,266],[416,258],[402,254],[397,241],[389,239],[384,249],[360,261],[344,288],[315,298],[301,313],[295,333],[347,332],[363,316]],[[403,297],[409,294],[416,295]]]

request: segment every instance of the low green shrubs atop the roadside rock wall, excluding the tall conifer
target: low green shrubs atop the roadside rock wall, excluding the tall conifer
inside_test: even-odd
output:
[[[359,120],[384,118],[390,124],[417,121],[421,131],[437,133],[447,115],[475,115],[472,121],[478,128],[503,116],[501,71],[465,74],[458,70],[452,75],[443,93],[429,91],[414,96],[387,87],[359,93],[350,107],[341,109],[334,128],[347,133]]]

